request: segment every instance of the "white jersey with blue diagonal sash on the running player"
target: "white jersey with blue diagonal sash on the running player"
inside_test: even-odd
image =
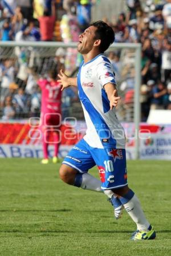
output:
[[[111,62],[103,54],[82,63],[78,72],[78,91],[87,124],[84,140],[93,148],[125,148],[125,133],[110,110],[104,90],[107,83],[116,84]]]

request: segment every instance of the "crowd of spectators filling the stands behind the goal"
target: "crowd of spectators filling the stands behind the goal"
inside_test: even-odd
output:
[[[100,0],[2,0],[0,39],[17,42],[77,42],[80,32],[91,22],[92,5],[98,2]],[[140,101],[141,119],[146,121],[150,109],[171,109],[171,0],[125,2],[127,10],[118,17],[111,17],[111,21],[107,17],[103,19],[115,31],[115,42],[142,44]],[[60,22],[60,31],[56,30],[56,22]],[[67,52],[63,48],[58,48],[54,57],[39,67],[31,64],[29,51],[18,47],[15,48],[17,60],[10,56],[0,59],[1,109],[4,120],[39,115],[40,90],[34,80],[34,72],[44,75],[48,68],[61,67],[73,71],[68,67],[72,64],[68,64]],[[77,56],[76,51],[71,54],[76,56],[74,61],[78,60],[79,65],[80,56]],[[133,79],[135,73],[130,71],[131,53],[126,56],[128,61],[125,61],[124,68],[121,68],[123,63],[120,51],[111,51],[108,57],[115,68],[120,90],[124,91],[123,102],[129,108],[136,86]],[[66,90],[62,98],[63,109],[68,109],[76,99],[75,91]],[[68,115],[67,110],[64,115]]]

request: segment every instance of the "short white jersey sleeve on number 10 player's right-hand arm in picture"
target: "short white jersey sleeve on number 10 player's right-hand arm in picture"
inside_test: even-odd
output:
[[[109,60],[97,65],[97,79],[100,81],[101,87],[104,87],[107,83],[116,84],[115,72]]]

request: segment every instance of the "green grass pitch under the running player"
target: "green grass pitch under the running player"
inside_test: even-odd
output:
[[[0,159],[1,256],[171,255],[171,161],[128,161],[129,186],[157,232],[140,242],[129,240],[136,227],[126,212],[116,221],[103,194],[64,184],[59,164],[39,161]]]

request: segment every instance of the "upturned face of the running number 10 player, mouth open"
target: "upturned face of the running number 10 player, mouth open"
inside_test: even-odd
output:
[[[77,46],[81,54],[88,54],[92,50],[95,38],[96,27],[90,26],[81,35],[79,35],[79,43]]]

